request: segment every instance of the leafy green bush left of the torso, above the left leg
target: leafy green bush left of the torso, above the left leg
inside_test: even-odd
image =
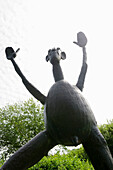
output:
[[[0,151],[4,158],[44,129],[43,110],[33,99],[0,109]]]

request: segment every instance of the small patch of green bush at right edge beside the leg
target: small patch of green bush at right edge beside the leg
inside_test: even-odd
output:
[[[113,119],[99,127],[102,135],[107,141],[111,154],[113,156]]]

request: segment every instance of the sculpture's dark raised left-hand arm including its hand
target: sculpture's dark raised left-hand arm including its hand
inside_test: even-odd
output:
[[[18,51],[18,50],[17,50]],[[17,52],[16,51],[16,52]],[[27,79],[26,77],[23,75],[23,73],[21,72],[19,66],[16,64],[14,58],[16,57],[16,52],[13,50],[12,47],[7,47],[6,50],[6,57],[7,59],[11,60],[15,71],[17,72],[17,74],[21,77],[23,84],[25,85],[25,87],[27,88],[27,90],[37,99],[39,100],[42,104],[45,104],[46,101],[46,97],[39,91],[37,90]]]

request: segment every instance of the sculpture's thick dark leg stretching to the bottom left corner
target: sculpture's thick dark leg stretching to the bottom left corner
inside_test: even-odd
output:
[[[11,156],[1,170],[25,170],[47,155],[54,146],[55,142],[48,136],[47,131],[43,131]]]

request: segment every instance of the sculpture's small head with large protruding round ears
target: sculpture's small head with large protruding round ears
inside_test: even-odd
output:
[[[46,56],[46,61],[50,61],[51,64],[59,63],[61,59],[66,59],[65,52],[62,52],[60,48],[53,48],[48,51],[48,55]]]

